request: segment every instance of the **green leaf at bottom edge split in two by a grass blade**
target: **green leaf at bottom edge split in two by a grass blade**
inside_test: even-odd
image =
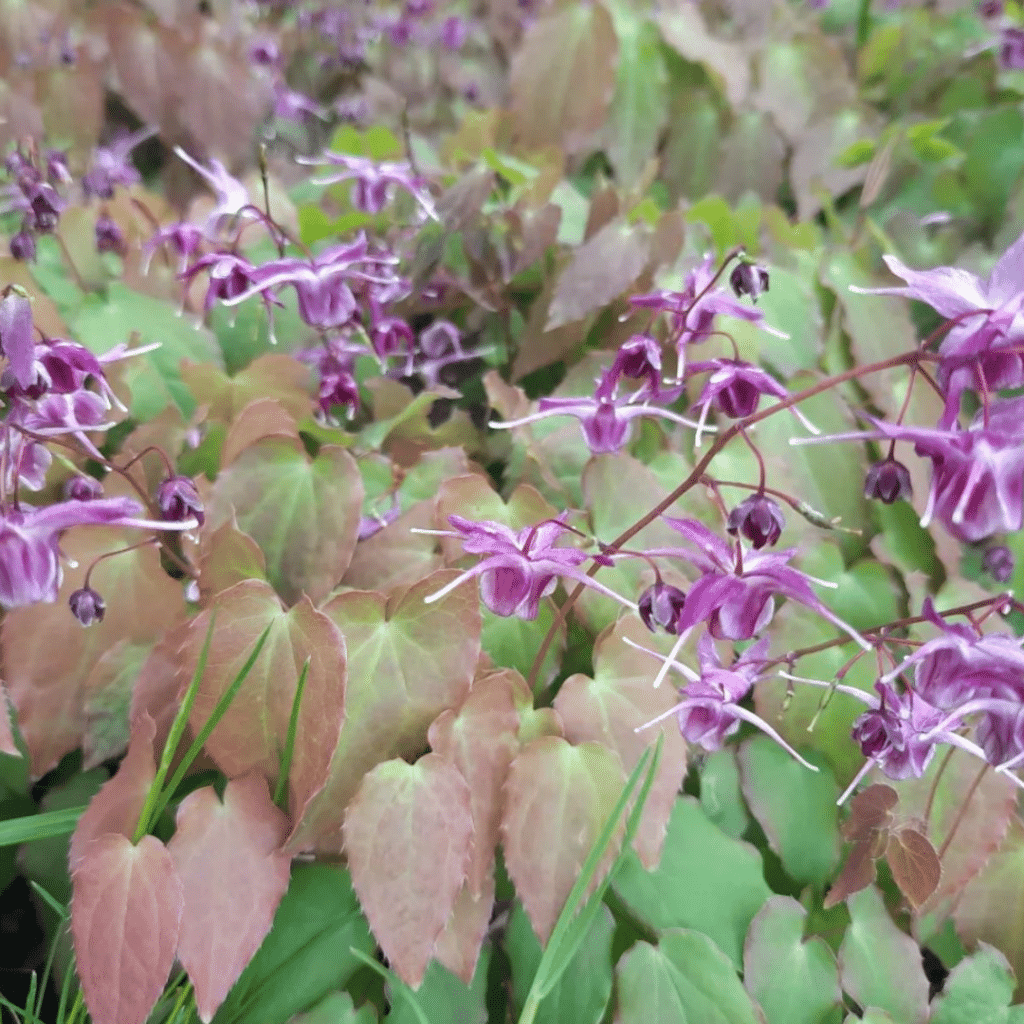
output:
[[[613,932],[611,913],[602,906],[564,974],[541,1004],[535,1024],[598,1024],[611,995]],[[505,949],[512,965],[516,1006],[521,1012],[543,950],[518,900],[509,918]]]

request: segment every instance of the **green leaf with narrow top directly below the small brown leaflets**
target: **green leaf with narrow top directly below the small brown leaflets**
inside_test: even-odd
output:
[[[850,928],[839,950],[843,990],[862,1007],[922,1024],[928,1019],[928,979],[918,943],[893,924],[873,886],[851,896],[847,906]]]

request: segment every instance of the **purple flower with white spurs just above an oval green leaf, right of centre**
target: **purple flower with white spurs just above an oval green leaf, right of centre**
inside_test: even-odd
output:
[[[684,676],[688,683],[680,689],[682,700],[657,718],[641,725],[636,731],[648,729],[652,725],[675,715],[679,721],[679,731],[688,742],[696,743],[703,750],[720,750],[727,736],[739,728],[740,721],[750,722],[775,740],[784,751],[811,771],[818,769],[805,761],[764,719],[740,706],[761,676],[761,666],[768,653],[768,640],[760,640],[724,668],[719,657],[715,641],[709,633],[697,641],[697,662],[700,672],[696,673],[675,660],[675,653],[668,658],[656,651],[641,647],[631,640],[626,641],[662,662],[659,677],[669,669]]]

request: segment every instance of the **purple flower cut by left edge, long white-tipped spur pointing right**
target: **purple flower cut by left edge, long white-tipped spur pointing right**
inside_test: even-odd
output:
[[[47,508],[0,508],[0,605],[18,608],[52,603],[63,572],[60,534],[72,526],[127,526],[135,529],[191,528],[140,518],[141,506],[127,498],[59,502]]]

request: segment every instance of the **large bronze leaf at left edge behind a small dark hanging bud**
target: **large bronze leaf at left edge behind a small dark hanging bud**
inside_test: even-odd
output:
[[[68,567],[56,602],[3,616],[2,675],[35,776],[81,744],[84,687],[100,657],[121,640],[152,643],[184,613],[181,584],[161,568],[160,553],[151,545],[96,564],[90,582],[106,601],[101,623],[83,629],[68,610],[68,597],[82,586],[92,562],[137,541],[137,535],[106,527],[69,530],[60,542]]]

